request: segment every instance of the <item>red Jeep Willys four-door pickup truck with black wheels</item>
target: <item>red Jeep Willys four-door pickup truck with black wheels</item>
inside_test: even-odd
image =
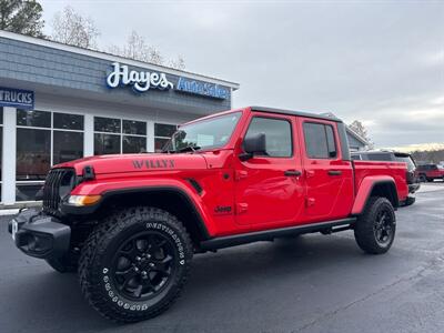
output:
[[[56,165],[42,210],[9,228],[26,254],[78,270],[102,315],[134,322],[172,304],[194,253],[345,230],[385,253],[405,178],[405,163],[352,161],[339,119],[251,107],[180,127],[163,153]]]

